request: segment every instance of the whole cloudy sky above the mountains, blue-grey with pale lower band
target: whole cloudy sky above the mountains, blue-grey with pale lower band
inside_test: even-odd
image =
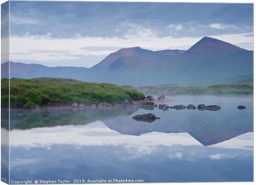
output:
[[[204,36],[252,50],[253,5],[10,2],[14,62],[92,67],[121,48],[187,50]]]

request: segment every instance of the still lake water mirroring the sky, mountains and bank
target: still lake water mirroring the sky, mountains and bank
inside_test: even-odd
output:
[[[253,180],[252,97],[167,99],[169,106],[206,104],[220,105],[221,109],[12,112],[10,183],[59,179],[70,183],[95,179],[144,183]],[[239,110],[238,105],[247,108]],[[132,119],[143,113],[154,113],[161,119],[152,123]],[[5,128],[3,132],[7,132]]]

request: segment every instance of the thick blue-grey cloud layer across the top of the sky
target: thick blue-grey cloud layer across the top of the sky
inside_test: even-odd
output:
[[[11,36],[203,37],[251,34],[253,4],[11,1]]]

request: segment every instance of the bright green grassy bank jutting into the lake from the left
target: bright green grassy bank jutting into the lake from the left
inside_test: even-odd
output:
[[[8,105],[8,79],[1,79],[1,106]],[[108,83],[57,82],[42,79],[11,79],[10,104],[12,107],[29,107],[35,104],[97,104],[121,103],[126,99],[139,100],[144,95]]]

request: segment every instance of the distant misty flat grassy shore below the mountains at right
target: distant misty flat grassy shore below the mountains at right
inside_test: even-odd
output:
[[[181,87],[181,86],[144,86],[131,87],[144,94],[158,94],[159,92],[173,93],[174,95],[252,95],[253,86],[248,85],[214,85],[209,87]]]

